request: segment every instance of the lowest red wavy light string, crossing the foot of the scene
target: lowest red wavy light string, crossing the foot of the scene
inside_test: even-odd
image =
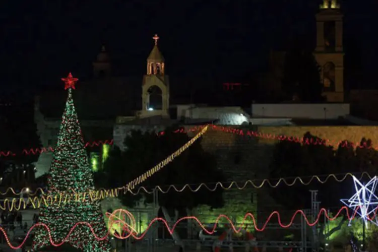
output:
[[[215,232],[215,230],[216,230],[217,224],[220,222],[220,219],[223,218],[223,219],[226,219],[226,220],[227,220],[227,222],[230,224],[230,228],[232,228],[232,230],[233,230],[235,233],[239,233],[240,230],[243,229],[243,226],[246,225],[246,224],[244,224],[244,223],[245,223],[245,220],[249,217],[249,218],[251,218],[252,221],[253,221],[254,229],[256,229],[256,231],[261,232],[261,231],[264,231],[264,229],[265,229],[266,226],[268,225],[270,219],[273,218],[273,216],[275,216],[275,215],[277,215],[278,224],[279,224],[282,228],[288,228],[288,227],[290,227],[290,226],[293,224],[294,219],[295,219],[295,217],[296,217],[298,214],[301,215],[301,216],[303,216],[303,218],[304,218],[304,220],[305,220],[305,222],[306,222],[306,224],[307,224],[308,226],[313,226],[313,225],[316,225],[316,224],[319,222],[319,220],[320,220],[322,214],[324,214],[324,216],[325,216],[327,219],[329,219],[330,221],[333,221],[333,220],[335,220],[336,218],[340,217],[342,211],[346,211],[346,216],[347,216],[347,218],[348,218],[349,220],[351,220],[351,219],[354,219],[354,218],[355,218],[355,215],[357,214],[357,210],[358,210],[358,207],[355,209],[353,215],[349,215],[348,208],[347,208],[347,207],[342,207],[342,208],[340,208],[340,210],[337,212],[337,214],[336,214],[334,217],[330,217],[330,216],[328,215],[328,213],[327,213],[327,210],[324,209],[324,208],[322,208],[322,209],[320,209],[320,211],[319,211],[319,213],[318,213],[318,216],[317,216],[317,218],[316,218],[316,220],[315,220],[314,222],[310,222],[310,221],[307,219],[307,216],[305,215],[305,213],[304,213],[302,210],[297,210],[297,211],[295,211],[295,213],[292,215],[292,217],[291,217],[291,219],[290,219],[290,222],[289,222],[288,224],[282,224],[282,221],[281,221],[281,217],[280,217],[279,212],[278,212],[278,211],[274,211],[274,212],[272,212],[272,213],[269,215],[269,217],[267,218],[267,220],[265,221],[264,225],[263,225],[261,228],[259,228],[259,227],[257,226],[255,216],[254,216],[253,214],[251,214],[251,213],[247,213],[247,214],[245,214],[245,216],[244,216],[244,218],[243,218],[243,221],[242,221],[242,223],[240,224],[240,227],[239,227],[239,228],[236,228],[236,227],[235,227],[235,225],[232,223],[231,219],[230,219],[228,216],[226,216],[226,215],[219,215],[218,218],[217,218],[216,221],[215,221],[214,227],[213,227],[212,229],[210,229],[210,230],[206,229],[206,227],[205,227],[205,226],[199,221],[199,219],[196,218],[195,216],[186,216],[186,217],[182,217],[182,218],[180,218],[179,220],[177,220],[177,221],[174,223],[174,225],[172,226],[172,228],[169,227],[167,221],[164,220],[163,218],[155,218],[155,219],[153,219],[153,220],[150,222],[150,224],[148,225],[147,229],[146,229],[142,234],[140,234],[139,236],[138,236],[137,234],[135,234],[135,231],[132,231],[132,230],[134,229],[133,226],[131,226],[131,225],[125,223],[124,220],[120,219],[120,217],[116,217],[117,212],[121,212],[121,213],[123,213],[125,216],[127,216],[128,218],[130,218],[130,216],[132,216],[132,214],[131,214],[130,212],[128,212],[127,210],[117,209],[117,210],[115,210],[115,211],[114,211],[113,213],[111,213],[111,214],[108,214],[108,213],[107,213],[107,215],[110,217],[110,218],[109,218],[109,224],[110,224],[109,227],[112,227],[112,225],[114,225],[114,224],[119,224],[119,225],[122,224],[122,225],[123,225],[122,227],[123,227],[124,231],[127,231],[127,232],[128,232],[127,235],[125,235],[125,236],[123,236],[123,237],[119,237],[119,238],[126,239],[126,238],[129,238],[129,237],[133,237],[133,238],[135,238],[135,239],[137,239],[137,240],[140,240],[140,239],[143,239],[143,238],[144,238],[144,236],[146,235],[147,231],[151,228],[151,226],[152,226],[155,222],[158,222],[158,221],[162,222],[162,223],[165,225],[165,227],[167,228],[167,230],[169,231],[170,234],[173,233],[173,230],[176,228],[176,226],[177,226],[181,221],[183,221],[183,220],[189,220],[189,219],[196,221],[196,222],[198,223],[198,225],[199,225],[199,226],[200,226],[200,227],[201,227],[206,233],[208,233],[208,234],[213,234],[213,233]],[[374,216],[375,216],[375,214],[376,214],[376,212],[374,213]],[[113,220],[112,218],[115,218],[115,220]],[[133,216],[132,218],[134,219],[134,216]],[[368,217],[368,218],[371,219],[370,217]],[[372,218],[373,218],[373,217],[372,217]],[[134,219],[134,220],[135,220],[135,219]],[[96,238],[97,240],[104,240],[104,239],[106,239],[106,238],[108,237],[108,234],[109,234],[109,233],[107,233],[107,234],[104,235],[103,237],[99,237],[99,236],[97,236],[96,233],[94,232],[92,226],[91,226],[88,222],[78,222],[78,223],[76,223],[76,224],[71,228],[70,232],[67,234],[66,238],[65,238],[63,241],[61,241],[61,242],[59,242],[59,243],[55,243],[55,242],[52,240],[52,237],[51,237],[51,231],[50,231],[49,227],[48,227],[47,225],[43,224],[43,223],[37,223],[37,224],[34,224],[34,225],[29,229],[29,231],[27,232],[27,234],[26,234],[26,236],[25,236],[23,242],[21,242],[21,244],[19,244],[18,246],[14,246],[14,245],[12,245],[12,243],[10,242],[9,237],[8,237],[6,231],[4,230],[3,227],[0,227],[0,231],[4,234],[5,239],[6,239],[7,243],[8,243],[8,245],[9,245],[12,249],[18,249],[18,248],[20,248],[20,247],[22,247],[22,246],[24,245],[26,239],[28,238],[28,236],[30,235],[30,233],[32,232],[32,230],[33,230],[35,227],[43,226],[43,227],[46,228],[47,231],[48,231],[48,235],[49,235],[49,241],[50,241],[50,243],[51,243],[53,246],[57,247],[57,246],[62,245],[62,244],[66,241],[66,239],[68,239],[68,237],[70,237],[70,235],[71,235],[71,233],[74,231],[74,229],[75,229],[77,226],[79,226],[79,225],[86,225],[86,226],[88,226],[88,227],[90,228],[92,234],[95,236],[95,238]],[[135,230],[135,229],[134,229],[134,230]]]

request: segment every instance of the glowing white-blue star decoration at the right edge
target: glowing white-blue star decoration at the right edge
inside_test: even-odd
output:
[[[366,228],[368,221],[378,226],[378,220],[375,216],[375,211],[378,208],[378,197],[375,196],[377,181],[377,177],[374,176],[367,184],[362,184],[358,178],[353,176],[356,194],[350,199],[340,200],[344,205],[353,209],[354,212],[361,216]],[[352,219],[349,220],[349,226],[351,222]]]

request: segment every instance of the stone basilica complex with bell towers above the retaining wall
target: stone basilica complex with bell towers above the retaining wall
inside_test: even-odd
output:
[[[257,104],[253,100],[249,101],[247,108],[198,104],[180,96],[180,92],[187,92],[182,85],[185,80],[168,75],[164,56],[159,50],[158,35],[152,37],[145,75],[140,77],[114,76],[110,56],[102,46],[93,62],[93,78],[79,82],[74,92],[85,140],[113,140],[115,145],[122,147],[124,137],[132,129],[164,130],[171,124],[206,123],[293,125],[297,124],[294,120],[298,118],[330,120],[344,117],[349,114],[349,104],[343,103],[342,20],[343,15],[335,0],[325,0],[316,15],[317,41],[313,55],[321,66],[325,104]],[[279,92],[285,53],[272,52],[270,58],[271,70],[256,85]],[[66,98],[66,92],[47,90],[35,99],[34,120],[43,146],[56,144]],[[51,158],[51,153],[40,156],[37,176],[47,172]]]

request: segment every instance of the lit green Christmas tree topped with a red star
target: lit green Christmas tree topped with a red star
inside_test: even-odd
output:
[[[72,98],[72,89],[75,89],[75,82],[78,79],[73,78],[70,73],[62,80],[65,81],[65,89],[68,89],[68,98],[48,174],[47,191],[52,197],[61,193],[73,195],[73,191],[83,195],[94,190],[93,174],[84,149],[84,140]],[[107,234],[100,202],[89,199],[86,201],[72,199],[64,204],[44,206],[40,209],[39,222],[50,228],[54,243],[62,242],[77,222],[90,223],[98,237]],[[97,240],[86,225],[78,225],[65,242],[85,252],[106,252],[111,249],[108,238]],[[50,246],[48,231],[40,226],[36,229],[32,250],[37,251],[48,246]]]

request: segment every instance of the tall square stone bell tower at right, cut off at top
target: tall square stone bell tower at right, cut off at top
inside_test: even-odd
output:
[[[316,20],[313,54],[321,67],[323,95],[327,102],[344,102],[343,14],[337,0],[323,0]]]

